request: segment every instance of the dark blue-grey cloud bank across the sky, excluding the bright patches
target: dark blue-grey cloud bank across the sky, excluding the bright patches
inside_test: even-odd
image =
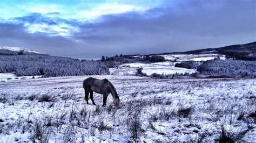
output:
[[[94,23],[52,19],[37,13],[21,22],[77,26],[71,37],[28,33],[22,24],[2,24],[0,45],[23,46],[77,58],[149,54],[244,44],[255,41],[254,1],[183,1],[177,5],[107,15]],[[56,13],[58,14],[58,13]]]

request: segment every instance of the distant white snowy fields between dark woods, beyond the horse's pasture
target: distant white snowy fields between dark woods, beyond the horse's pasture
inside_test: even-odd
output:
[[[151,75],[153,73],[157,74],[184,74],[184,73],[195,73],[196,69],[186,69],[174,67],[177,62],[182,61],[207,61],[213,60],[214,58],[219,58],[225,60],[224,55],[219,54],[170,54],[162,55],[164,56],[165,62],[157,63],[125,63],[124,65],[118,66],[118,68],[110,68],[110,73],[113,75],[135,75],[137,69],[142,67],[142,72]]]

